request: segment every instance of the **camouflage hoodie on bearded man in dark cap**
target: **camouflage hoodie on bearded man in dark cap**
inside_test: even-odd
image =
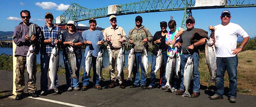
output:
[[[135,45],[132,45],[132,47],[134,48],[134,52],[142,52],[144,48],[148,49],[148,43],[142,42],[145,38],[148,38],[148,42],[151,42],[153,36],[148,28],[145,28],[143,25],[140,28],[137,28],[135,26],[133,29],[130,30],[128,34],[128,41],[134,41]]]

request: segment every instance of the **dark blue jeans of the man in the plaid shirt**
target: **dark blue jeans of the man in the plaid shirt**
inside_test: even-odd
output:
[[[47,73],[49,70],[49,62],[50,62],[50,56],[48,55],[42,55],[40,56],[40,63],[41,63],[41,78],[40,78],[40,87],[42,91],[47,91],[48,89],[48,77]],[[56,81],[55,81],[56,87],[59,86],[58,84],[58,76],[56,74]]]

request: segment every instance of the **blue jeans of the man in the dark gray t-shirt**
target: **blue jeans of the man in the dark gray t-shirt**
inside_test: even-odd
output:
[[[184,80],[184,69],[185,69],[185,65],[187,63],[188,57],[191,56],[191,58],[193,58],[193,62],[194,62],[194,74],[193,74],[193,92],[199,92],[200,89],[200,75],[199,75],[199,71],[198,71],[198,64],[199,64],[199,53],[198,52],[193,52],[191,54],[182,54],[180,56],[180,67],[181,67],[181,83],[180,83],[180,90],[185,91],[185,87],[183,84],[183,80]]]

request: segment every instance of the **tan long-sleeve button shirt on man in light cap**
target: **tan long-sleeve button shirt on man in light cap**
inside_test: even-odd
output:
[[[108,43],[108,48],[121,48],[121,43],[119,42],[119,39],[126,40],[126,34],[124,32],[124,29],[120,26],[116,26],[114,29],[112,26],[106,28],[103,32],[104,35],[104,41]],[[106,37],[109,37],[111,41],[107,41]]]

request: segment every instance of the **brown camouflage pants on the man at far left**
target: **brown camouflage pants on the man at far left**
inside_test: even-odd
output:
[[[22,94],[23,90],[25,88],[24,72],[25,72],[25,68],[26,68],[26,59],[27,59],[26,57],[22,57],[22,56],[17,57],[16,78],[15,78],[15,86],[16,86],[16,91],[15,92],[17,94]],[[35,87],[35,85],[36,85],[36,67],[33,70],[32,75],[33,75],[32,77],[33,77],[35,83],[28,82],[28,93],[35,92],[35,90],[36,90],[36,87]]]

